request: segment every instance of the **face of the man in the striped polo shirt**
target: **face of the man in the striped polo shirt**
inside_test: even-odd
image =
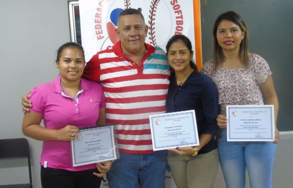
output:
[[[147,26],[140,15],[125,15],[118,22],[116,34],[126,54],[138,54],[145,51]]]

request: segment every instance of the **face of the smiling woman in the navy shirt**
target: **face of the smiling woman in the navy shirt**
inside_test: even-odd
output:
[[[190,52],[188,47],[179,40],[174,42],[168,50],[167,58],[169,65],[174,71],[190,71],[190,60],[192,59],[193,52]]]

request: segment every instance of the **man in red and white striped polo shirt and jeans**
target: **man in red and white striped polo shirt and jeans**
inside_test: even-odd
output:
[[[107,123],[116,124],[120,159],[108,172],[110,188],[164,188],[167,151],[152,150],[149,115],[166,112],[169,65],[160,47],[145,43],[141,12],[118,17],[119,41],[95,54],[84,77],[102,83]]]

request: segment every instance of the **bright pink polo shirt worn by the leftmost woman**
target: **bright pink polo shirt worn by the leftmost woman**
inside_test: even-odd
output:
[[[105,95],[101,84],[81,79],[84,90],[78,95],[78,102],[61,94],[60,76],[54,81],[33,89],[30,100],[31,112],[42,114],[44,126],[61,129],[66,125],[78,128],[95,126],[99,109],[105,108]],[[47,167],[80,171],[96,168],[96,164],[72,166],[70,141],[43,141],[40,163]]]

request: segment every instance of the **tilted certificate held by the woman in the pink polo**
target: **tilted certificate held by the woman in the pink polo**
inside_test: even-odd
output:
[[[73,166],[117,159],[113,124],[81,129],[71,141]]]

